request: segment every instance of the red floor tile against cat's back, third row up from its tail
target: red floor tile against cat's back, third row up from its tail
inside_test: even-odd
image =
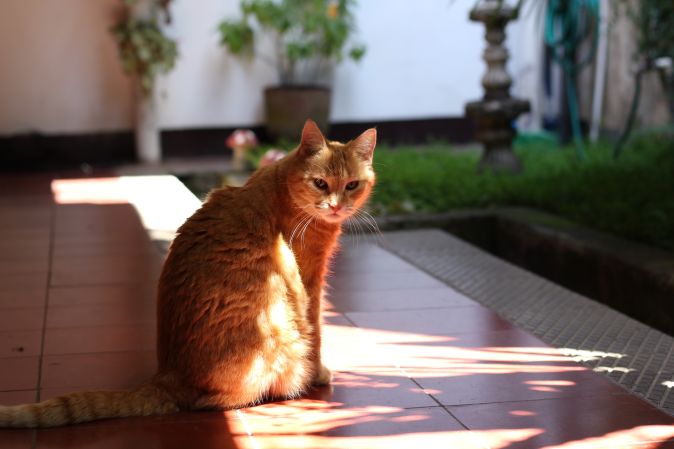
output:
[[[49,307],[47,328],[151,325],[156,322],[156,311],[149,301]]]

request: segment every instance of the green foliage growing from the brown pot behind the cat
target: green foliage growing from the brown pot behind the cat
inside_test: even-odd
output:
[[[353,0],[242,0],[243,17],[218,25],[220,43],[234,55],[274,66],[281,85],[325,83],[335,63],[365,54],[365,46],[348,45],[353,6]],[[256,45],[261,35],[273,40],[274,55]]]

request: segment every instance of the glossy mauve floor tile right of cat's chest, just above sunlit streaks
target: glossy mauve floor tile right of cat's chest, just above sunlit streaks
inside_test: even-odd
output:
[[[448,287],[373,291],[332,289],[329,291],[328,299],[340,312],[375,312],[477,305],[475,301]]]

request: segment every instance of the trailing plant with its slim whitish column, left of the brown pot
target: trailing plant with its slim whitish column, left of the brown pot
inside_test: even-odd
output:
[[[134,77],[136,93],[136,152],[141,162],[161,160],[159,126],[154,100],[157,75],[166,73],[178,57],[176,42],[159,25],[170,22],[171,0],[123,0],[124,14],[111,32],[119,47],[124,71]]]

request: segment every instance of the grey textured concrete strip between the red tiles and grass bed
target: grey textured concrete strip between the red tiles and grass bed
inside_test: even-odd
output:
[[[439,230],[379,244],[674,415],[674,338]]]

